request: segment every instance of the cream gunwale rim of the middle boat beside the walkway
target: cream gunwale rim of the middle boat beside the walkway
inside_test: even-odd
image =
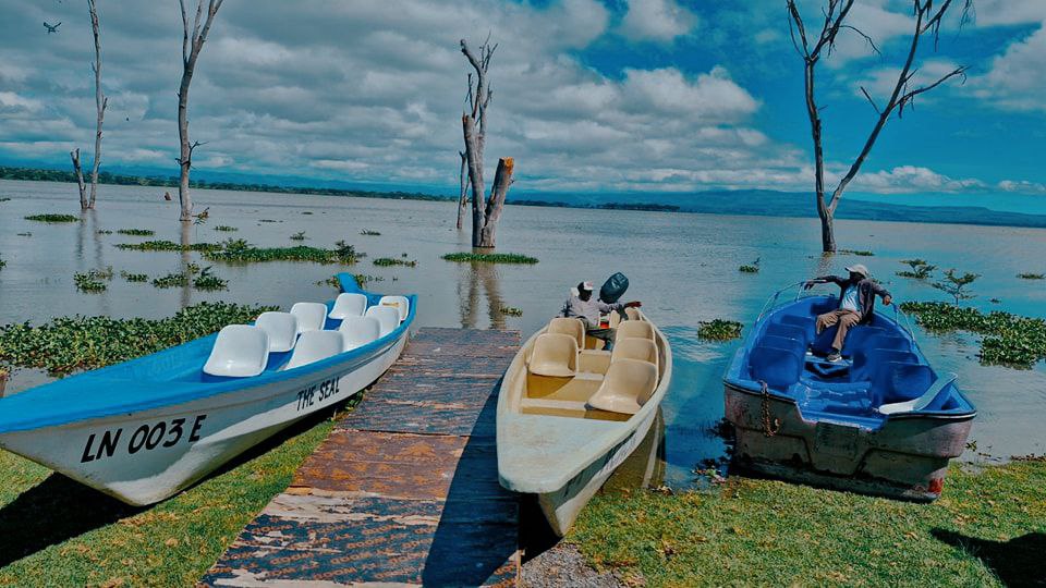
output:
[[[668,388],[671,384],[672,380],[672,346],[668,341],[668,338],[665,336],[665,333],[658,328],[657,323],[649,319],[645,313],[642,310],[638,311],[640,317],[643,320],[646,320],[653,328],[655,335],[659,341],[664,343],[665,346],[665,370],[660,373],[658,379],[657,388],[654,391],[654,394],[650,395],[650,399],[640,407],[638,412],[632,415],[628,420],[619,421],[605,421],[609,427],[607,427],[607,433],[612,434],[612,439],[607,440],[600,444],[600,450],[593,452],[594,456],[598,458],[599,455],[603,455],[613,448],[623,443],[629,436],[634,434],[638,429],[640,424],[643,422],[649,413],[656,412],[657,408],[661,405],[661,401],[665,399],[665,395],[668,393]],[[515,357],[512,358],[512,363],[509,365],[506,370],[506,376],[513,372],[513,370],[525,377],[526,367],[520,366],[519,364],[523,363],[526,350],[534,344],[534,341],[538,335],[544,333],[548,329],[548,324],[538,329],[534,334],[532,334],[527,340],[520,346],[520,351],[515,354]],[[500,416],[502,414],[511,414],[512,416],[539,416],[540,418],[548,419],[561,419],[564,424],[570,420],[577,420],[577,417],[567,417],[561,415],[523,415],[518,411],[510,411],[508,408],[509,396],[511,395],[508,387],[510,385],[510,380],[508,378],[502,378],[501,385],[498,389],[498,406],[496,414],[498,415],[497,428],[496,428],[496,438],[497,438],[497,453],[498,453],[498,480],[501,486],[513,492],[520,492],[525,494],[545,494],[549,492],[556,492],[559,489],[563,488],[571,480],[576,478],[582,474],[586,467],[592,463],[591,460],[576,463],[574,467],[567,470],[563,469],[562,473],[551,482],[548,479],[544,480],[543,483],[533,483],[527,479],[508,479],[504,477],[501,470],[502,463],[502,438],[507,433],[502,433],[504,424],[502,422]]]

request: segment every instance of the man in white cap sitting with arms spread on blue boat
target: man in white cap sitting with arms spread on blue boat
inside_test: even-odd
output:
[[[855,324],[866,324],[872,321],[875,314],[875,296],[883,297],[883,304],[889,306],[893,302],[890,293],[876,282],[869,275],[868,268],[862,264],[854,264],[847,268],[850,272],[848,278],[840,275],[822,275],[814,278],[803,284],[803,287],[811,289],[814,284],[825,284],[831,282],[839,286],[839,308],[825,313],[817,317],[817,334],[832,327],[839,326],[836,331],[836,339],[831,342],[831,353],[826,357],[829,362],[842,359],[842,344],[847,341],[847,333]]]

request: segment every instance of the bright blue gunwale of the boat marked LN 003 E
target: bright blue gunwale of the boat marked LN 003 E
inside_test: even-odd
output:
[[[341,277],[343,274],[339,274]],[[348,285],[346,285],[348,284]],[[345,282],[342,279],[342,290],[345,292],[358,292],[367,295],[368,299],[374,297],[380,298],[382,294],[376,294],[372,292],[364,291],[360,287],[352,287],[354,283]],[[162,395],[153,396],[143,395],[141,397],[131,396],[123,402],[113,402],[108,406],[92,407],[88,411],[84,411],[80,414],[71,412],[68,414],[60,415],[54,417],[49,414],[33,415],[29,417],[24,416],[24,414],[19,415],[15,418],[20,420],[14,420],[10,424],[3,424],[0,421],[0,436],[7,433],[24,432],[35,429],[44,429],[49,427],[62,427],[72,425],[75,422],[82,422],[93,419],[100,418],[110,418],[118,415],[124,415],[127,413],[142,412],[142,411],[153,411],[157,408],[162,408],[167,406],[177,406],[179,404],[184,404],[186,402],[194,402],[197,400],[214,399],[217,396],[232,394],[236,392],[242,392],[245,390],[251,390],[255,388],[260,388],[265,385],[279,384],[283,382],[291,382],[295,379],[306,379],[313,376],[316,372],[320,372],[327,369],[330,369],[340,364],[350,364],[352,365],[357,359],[365,359],[360,363],[356,368],[363,367],[369,364],[370,360],[377,358],[388,352],[390,348],[393,348],[401,339],[408,336],[410,328],[413,326],[414,319],[416,317],[417,310],[417,295],[409,294],[405,296],[410,301],[410,308],[408,316],[403,321],[392,331],[387,333],[385,336],[378,338],[366,345],[362,345],[354,350],[349,350],[341,352],[337,355],[326,357],[318,362],[313,362],[300,366],[297,368],[289,370],[266,370],[258,376],[253,376],[250,378],[235,378],[228,379],[227,381],[211,381],[211,382],[180,382],[177,380],[141,380],[133,378],[115,378],[108,377],[105,372],[112,371],[115,368],[126,367],[132,364],[145,363],[147,360],[154,359],[157,356],[163,355],[174,355],[179,350],[184,350],[190,346],[199,346],[204,345],[207,341],[214,340],[217,338],[217,333],[211,333],[193,341],[182,343],[181,345],[175,345],[173,347],[167,347],[158,352],[143,355],[141,357],[135,357],[126,362],[121,362],[119,364],[113,364],[111,366],[106,366],[96,370],[85,371],[82,373],[76,373],[69,376],[68,378],[62,378],[52,382],[47,382],[41,385],[37,385],[25,390],[19,394],[8,396],[5,399],[0,399],[0,411],[3,408],[10,407],[11,404],[23,404],[33,400],[32,394],[34,391],[45,390],[49,387],[61,385],[69,387],[76,383],[82,383],[80,388],[80,393],[90,393],[93,390],[96,390],[101,387],[111,387],[115,383],[124,384],[125,388],[134,390],[142,390],[148,392],[155,392],[157,385],[165,385],[168,388],[177,388],[178,390],[169,392]],[[330,301],[328,301],[329,308]],[[72,382],[72,384],[71,384]],[[145,384],[145,385],[143,385]],[[29,394],[29,395],[26,395]],[[129,394],[129,392],[125,392]],[[48,399],[53,400],[53,399]],[[14,401],[14,402],[12,402]],[[8,404],[8,406],[4,406]]]

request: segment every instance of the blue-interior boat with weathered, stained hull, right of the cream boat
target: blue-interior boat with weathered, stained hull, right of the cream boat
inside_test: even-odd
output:
[[[723,378],[735,462],[815,486],[938,498],[976,416],[956,376],[935,371],[911,328],[880,311],[851,329],[842,362],[827,362],[835,328],[818,335],[815,320],[838,298],[796,296],[775,306],[780,294]]]

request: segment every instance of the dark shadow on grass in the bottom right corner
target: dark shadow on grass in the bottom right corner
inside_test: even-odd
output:
[[[1009,541],[992,541],[965,535],[934,529],[939,541],[957,547],[980,558],[1007,586],[1046,586],[1046,534],[1030,532]]]

